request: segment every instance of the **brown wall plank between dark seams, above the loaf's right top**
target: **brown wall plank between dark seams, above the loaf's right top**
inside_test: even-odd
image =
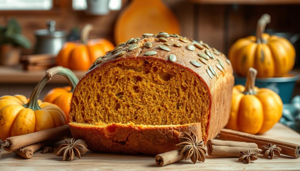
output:
[[[226,6],[222,5],[199,5],[197,34],[195,40],[203,40],[209,46],[221,52],[224,46],[224,11]]]

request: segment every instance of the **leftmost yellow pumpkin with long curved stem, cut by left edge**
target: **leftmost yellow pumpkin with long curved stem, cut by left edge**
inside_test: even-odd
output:
[[[56,74],[69,76],[70,69],[61,66],[48,69],[36,85],[30,99],[23,95],[0,97],[0,139],[29,134],[67,124],[64,112],[49,102],[38,100],[41,90]]]

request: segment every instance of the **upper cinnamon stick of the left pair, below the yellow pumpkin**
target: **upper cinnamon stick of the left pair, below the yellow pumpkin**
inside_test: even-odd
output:
[[[69,125],[59,126],[56,128],[45,129],[30,134],[6,138],[6,140],[4,140],[1,144],[0,158],[2,149],[11,152],[23,148],[25,146],[29,146],[31,144],[39,143],[46,140],[53,140],[57,137],[65,136],[67,134],[70,134]]]

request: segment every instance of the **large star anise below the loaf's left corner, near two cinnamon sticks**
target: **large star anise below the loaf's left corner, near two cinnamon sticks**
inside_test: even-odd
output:
[[[71,141],[65,140],[65,144],[61,144],[58,147],[58,152],[55,154],[58,157],[62,157],[62,161],[66,161],[67,159],[74,160],[75,156],[80,159],[80,155],[87,152],[88,149],[86,143],[83,140],[76,140],[72,138]]]

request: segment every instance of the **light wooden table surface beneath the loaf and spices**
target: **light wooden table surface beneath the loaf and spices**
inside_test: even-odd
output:
[[[300,134],[278,123],[264,137],[300,143]],[[61,142],[55,144],[55,153]],[[300,158],[283,156],[280,158],[259,159],[250,164],[237,162],[237,158],[213,158],[206,155],[205,162],[192,164],[190,159],[158,167],[154,156],[125,155],[87,152],[81,159],[74,161],[61,161],[55,153],[42,154],[41,150],[35,152],[31,159],[23,159],[12,152],[4,151],[0,160],[0,170],[300,170]]]

